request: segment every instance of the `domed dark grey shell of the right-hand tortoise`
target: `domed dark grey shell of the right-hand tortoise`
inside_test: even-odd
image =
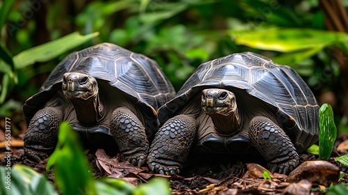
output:
[[[198,66],[177,96],[159,108],[160,123],[173,117],[204,88],[226,88],[234,93],[242,89],[246,92],[242,95],[266,102],[299,152],[317,141],[319,106],[310,88],[292,68],[251,52]]]

